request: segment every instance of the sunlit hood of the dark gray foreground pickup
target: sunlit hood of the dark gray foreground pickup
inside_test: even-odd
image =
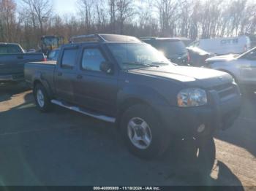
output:
[[[193,87],[208,88],[233,82],[233,78],[225,72],[189,66],[161,66],[159,68],[139,69],[130,72],[185,82]]]

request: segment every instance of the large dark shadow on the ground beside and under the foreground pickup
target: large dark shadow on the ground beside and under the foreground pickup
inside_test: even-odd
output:
[[[241,186],[220,161],[213,179],[200,164],[183,160],[182,150],[140,160],[127,152],[113,125],[59,107],[42,114],[31,93],[25,100],[0,114],[2,185]]]

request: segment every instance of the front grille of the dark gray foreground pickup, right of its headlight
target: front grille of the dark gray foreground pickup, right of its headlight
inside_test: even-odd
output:
[[[237,95],[236,86],[234,86],[232,83],[225,84],[225,85],[219,85],[212,88],[213,90],[216,90],[219,94],[219,98],[224,99],[227,98],[230,95]]]

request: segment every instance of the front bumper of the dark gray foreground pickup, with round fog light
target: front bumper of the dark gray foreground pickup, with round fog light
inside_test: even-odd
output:
[[[178,137],[209,136],[216,130],[225,130],[233,125],[241,112],[241,93],[221,99],[215,90],[208,91],[209,103],[198,107],[165,107],[161,109],[165,126]]]

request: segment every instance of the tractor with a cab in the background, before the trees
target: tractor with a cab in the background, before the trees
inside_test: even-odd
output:
[[[40,44],[41,52],[48,56],[50,51],[59,48],[62,44],[64,44],[63,36],[42,36]]]

